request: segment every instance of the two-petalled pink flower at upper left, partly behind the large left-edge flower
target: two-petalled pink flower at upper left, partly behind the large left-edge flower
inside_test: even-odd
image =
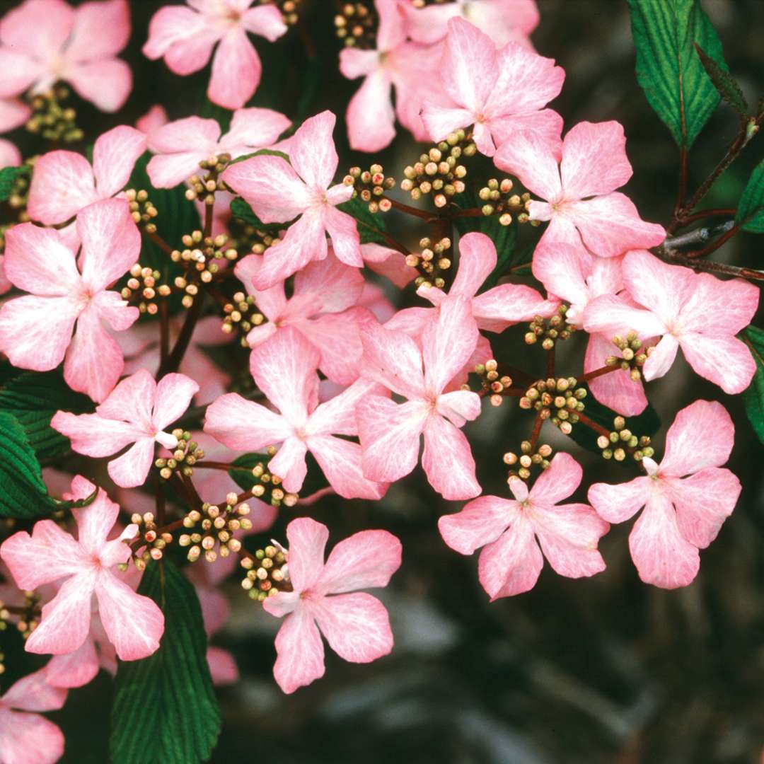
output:
[[[146,136],[135,128],[120,125],[95,141],[92,167],[74,151],[43,154],[34,164],[29,216],[45,225],[57,225],[93,202],[114,196],[125,188],[136,160],[144,151]]]

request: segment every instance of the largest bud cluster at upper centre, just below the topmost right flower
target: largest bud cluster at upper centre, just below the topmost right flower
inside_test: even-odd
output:
[[[467,167],[459,160],[474,157],[476,151],[478,147],[471,135],[461,129],[451,133],[445,141],[433,146],[427,154],[422,154],[418,162],[403,170],[406,178],[401,181],[400,187],[408,191],[412,199],[434,193],[432,202],[435,206],[445,207],[448,199],[465,190]]]

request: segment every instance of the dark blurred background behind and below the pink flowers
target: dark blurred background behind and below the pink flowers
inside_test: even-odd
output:
[[[0,8],[13,5],[2,2]],[[101,115],[78,102],[78,121],[90,142],[113,125],[133,124],[157,102],[166,105],[171,118],[209,108],[204,98],[209,67],[180,78],[164,63],[141,55],[148,20],[161,5],[158,0],[131,2],[134,33],[123,57],[133,68],[135,85],[125,109]],[[724,42],[733,75],[755,104],[764,83],[764,2],[704,0],[703,5]],[[625,0],[539,0],[539,8],[542,21],[533,42],[567,73],[552,106],[565,118],[566,129],[581,120],[623,123],[635,168],[626,192],[643,218],[665,224],[675,199],[677,152],[636,83]],[[340,41],[333,15],[329,0],[306,2],[302,34],[290,31],[273,45],[257,40],[264,77],[254,105],[276,108],[296,121],[325,108],[344,113],[358,83],[338,73]],[[306,53],[306,37],[314,57]],[[736,129],[733,113],[721,107],[692,151],[691,188],[724,154]],[[11,138],[24,144],[23,131]],[[371,163],[371,157],[348,151],[342,126],[335,138],[340,173],[351,164]],[[762,157],[762,141],[753,141],[704,206],[736,205]],[[378,158],[386,174],[400,180],[403,166],[419,153],[401,133]],[[471,170],[471,176],[478,175]],[[400,228],[412,242],[427,232]],[[521,245],[526,233],[521,231]],[[761,267],[762,240],[740,234],[714,257]],[[399,295],[398,304],[411,304],[412,297],[410,291]],[[542,374],[542,354],[526,351],[522,332],[522,327],[505,332],[494,350],[513,365]],[[558,371],[580,373],[585,338],[574,337],[566,345]],[[511,356],[501,348],[509,348]],[[329,526],[332,542],[366,528],[389,529],[403,542],[403,567],[382,594],[396,636],[393,654],[371,665],[351,665],[327,651],[325,677],[285,696],[270,673],[278,623],[244,597],[234,578],[226,585],[231,622],[216,642],[235,654],[242,680],[220,691],[225,724],[212,760],[759,762],[764,748],[764,451],[740,397],[725,396],[681,359],[668,377],[649,385],[648,395],[664,424],[655,441],[656,458],[662,455],[666,426],[693,400],[720,400],[736,422],[729,466],[743,482],[743,494],[716,542],[701,553],[694,584],[680,591],[642,584],[630,561],[631,523],[626,523],[614,526],[601,542],[607,562],[603,574],[571,581],[547,565],[533,591],[488,604],[476,558],[452,552],[437,532],[438,517],[461,504],[441,500],[419,469],[379,503],[330,497],[311,514]],[[506,491],[501,455],[516,450],[531,423],[505,405],[486,410],[478,425],[468,426],[486,493]],[[569,450],[584,465],[576,500],[584,499],[594,481],[636,475],[628,462],[605,462],[553,434],[545,430],[542,441]],[[292,516],[293,510],[283,510],[270,535],[283,539]],[[52,715],[67,736],[67,762],[107,760],[110,692],[111,681],[101,675],[73,691],[64,711]]]

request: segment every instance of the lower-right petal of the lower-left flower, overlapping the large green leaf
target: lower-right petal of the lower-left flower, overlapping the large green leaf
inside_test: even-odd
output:
[[[101,623],[120,660],[135,661],[157,651],[164,616],[153,600],[136,594],[108,571],[101,571],[95,596]]]

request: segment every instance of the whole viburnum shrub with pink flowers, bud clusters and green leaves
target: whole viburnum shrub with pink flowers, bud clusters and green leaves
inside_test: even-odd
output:
[[[380,527],[407,475],[453,503],[429,518],[442,570],[481,550],[484,607],[545,561],[600,574],[600,540],[634,516],[639,578],[694,581],[741,490],[730,396],[764,439],[764,272],[709,258],[764,232],[764,162],[730,209],[701,204],[764,112],[699,0],[627,2],[679,152],[659,222],[623,191],[623,125],[555,111],[565,71],[530,41],[533,0],[157,2],[134,30],[131,6],[153,4],[5,13],[0,129],[28,134],[23,153],[0,141],[0,626],[50,657],[5,665],[2,764],[59,759],[39,714],[99,669],[113,762],[209,758],[213,685],[238,677],[208,647],[231,598],[279,619],[285,693],[322,678],[325,643],[387,656],[397,599],[367,590],[418,553]],[[319,67],[319,24],[341,40],[321,66],[358,81],[345,113],[315,73],[299,107],[268,108],[258,51],[297,37]],[[136,125],[80,120],[119,121],[131,34],[174,89],[202,72],[201,108],[157,89]],[[698,182],[691,147],[722,99],[736,135]],[[652,380],[679,351],[719,400],[661,423]]]

